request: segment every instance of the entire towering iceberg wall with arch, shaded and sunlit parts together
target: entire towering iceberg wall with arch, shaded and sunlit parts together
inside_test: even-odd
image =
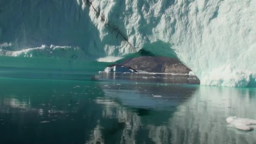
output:
[[[0,1],[0,43],[13,45],[2,49],[69,45],[99,58],[143,48],[176,55],[205,85],[256,83],[255,0],[91,1]]]

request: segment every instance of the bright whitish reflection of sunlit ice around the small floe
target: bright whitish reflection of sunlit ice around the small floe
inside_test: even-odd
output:
[[[226,122],[229,116],[256,119],[255,88],[200,86],[192,99],[178,109],[168,121],[177,143],[256,143],[256,131],[239,131]]]

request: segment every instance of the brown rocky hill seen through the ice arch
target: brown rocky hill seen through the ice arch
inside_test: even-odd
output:
[[[146,72],[189,74],[191,71],[179,60],[162,56],[141,56],[120,64]]]

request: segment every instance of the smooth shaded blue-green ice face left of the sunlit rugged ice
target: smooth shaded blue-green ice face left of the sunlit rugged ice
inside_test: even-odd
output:
[[[76,0],[0,0],[0,48],[20,51],[60,45],[104,56],[88,13],[89,8],[82,9]]]

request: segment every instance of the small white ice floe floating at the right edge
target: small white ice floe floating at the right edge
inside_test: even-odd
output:
[[[243,131],[251,131],[253,130],[253,125],[256,126],[256,120],[248,118],[228,117],[226,121],[233,127]]]

